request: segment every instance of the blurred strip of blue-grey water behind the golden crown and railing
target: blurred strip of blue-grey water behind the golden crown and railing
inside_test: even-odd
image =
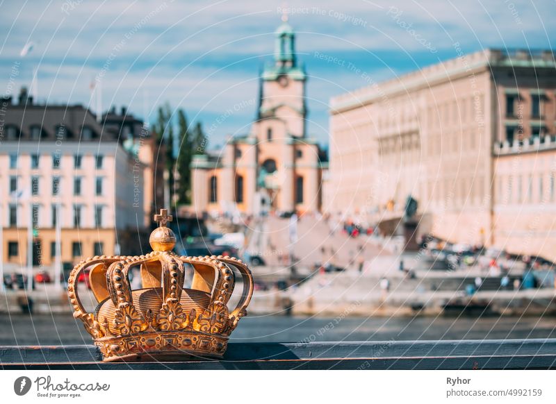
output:
[[[233,342],[556,338],[554,317],[245,317]],[[0,345],[90,344],[71,314],[0,314]]]

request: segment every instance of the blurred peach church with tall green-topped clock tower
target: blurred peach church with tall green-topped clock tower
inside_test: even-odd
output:
[[[231,137],[219,153],[193,158],[192,204],[204,212],[320,210],[322,151],[306,134],[306,73],[287,21],[275,32],[275,55],[260,78],[250,133]]]

